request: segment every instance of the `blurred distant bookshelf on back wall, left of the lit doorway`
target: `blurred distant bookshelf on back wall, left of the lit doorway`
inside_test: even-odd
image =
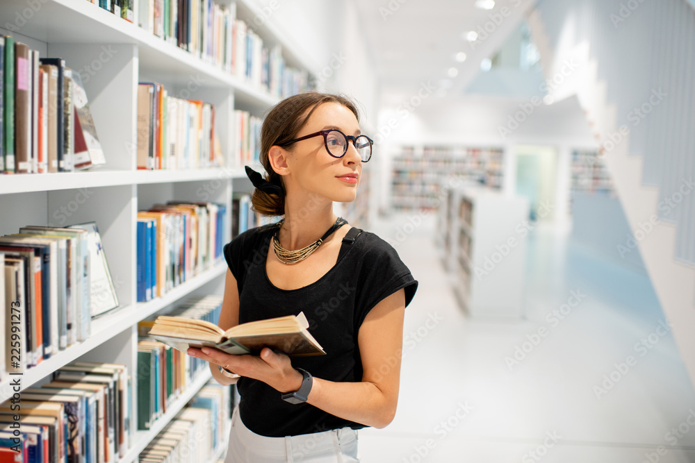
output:
[[[391,166],[391,208],[436,209],[447,178],[500,190],[504,158],[498,146],[402,146]]]

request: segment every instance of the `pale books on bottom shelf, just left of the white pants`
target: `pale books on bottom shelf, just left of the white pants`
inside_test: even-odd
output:
[[[229,387],[211,380],[167,423],[138,461],[147,463],[209,462],[226,444],[230,423]]]

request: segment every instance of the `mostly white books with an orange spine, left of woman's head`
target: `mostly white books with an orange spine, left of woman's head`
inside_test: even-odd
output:
[[[138,85],[138,169],[222,165],[211,103],[177,98],[160,83]]]

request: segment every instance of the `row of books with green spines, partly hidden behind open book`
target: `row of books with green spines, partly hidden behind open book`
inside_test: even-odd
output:
[[[202,296],[189,298],[171,314],[217,324],[220,310],[220,296]],[[149,337],[153,325],[153,319],[138,323],[138,430],[151,428],[199,373],[208,368],[208,362]]]

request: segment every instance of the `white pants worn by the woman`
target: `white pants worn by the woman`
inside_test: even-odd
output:
[[[239,409],[231,417],[224,463],[359,463],[357,430],[342,428],[287,437],[265,437],[249,430]]]

